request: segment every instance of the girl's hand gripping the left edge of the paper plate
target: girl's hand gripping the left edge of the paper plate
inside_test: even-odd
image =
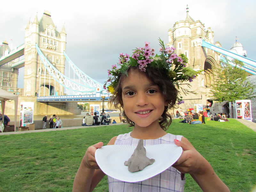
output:
[[[83,158],[84,165],[87,168],[100,169],[99,165],[95,160],[95,151],[98,148],[101,148],[102,146],[103,146],[103,142],[99,142],[99,143],[96,143],[95,145],[88,147]]]

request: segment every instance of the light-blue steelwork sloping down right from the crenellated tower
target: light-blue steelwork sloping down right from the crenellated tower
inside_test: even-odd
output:
[[[233,53],[233,52],[230,52],[230,51],[227,51],[225,49],[222,49],[220,47],[217,47],[215,45],[212,45],[210,43],[207,43],[206,41],[202,40],[202,47],[206,47],[208,49],[211,49],[213,51],[216,51],[216,52],[219,52],[223,55],[226,55],[228,57],[231,57],[233,59],[236,59],[236,60],[239,60],[239,61],[242,61],[244,63],[244,68],[246,68],[248,71],[251,71],[253,72],[252,74],[255,75],[256,73],[256,61],[254,60],[251,60],[251,59],[248,59],[246,57],[243,57],[241,55],[238,55],[236,53]],[[244,69],[243,68],[243,69]],[[244,69],[245,70],[245,69]],[[249,73],[251,73],[249,72]]]

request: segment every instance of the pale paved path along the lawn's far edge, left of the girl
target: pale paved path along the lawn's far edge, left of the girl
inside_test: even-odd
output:
[[[123,125],[123,124],[125,123],[116,123],[116,124],[109,124],[109,125]],[[0,133],[0,136],[22,134],[22,133],[38,133],[38,132],[48,132],[48,131],[62,131],[62,130],[69,130],[69,129],[82,129],[87,127],[102,127],[102,126],[109,126],[109,125],[92,125],[92,126],[63,127],[63,128],[57,128],[57,129],[37,129],[37,130],[30,130],[30,131],[3,132],[3,133]]]

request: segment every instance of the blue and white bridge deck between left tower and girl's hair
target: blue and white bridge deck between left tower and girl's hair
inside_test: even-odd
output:
[[[104,94],[105,99],[109,100],[111,94]],[[55,102],[63,102],[63,101],[92,101],[92,100],[102,100],[99,94],[91,94],[91,95],[63,95],[63,96],[44,96],[44,97],[37,97],[36,101],[39,102],[48,102],[48,101],[55,101]]]

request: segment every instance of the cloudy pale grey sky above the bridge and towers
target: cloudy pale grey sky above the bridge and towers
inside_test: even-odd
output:
[[[14,48],[24,43],[28,19],[38,20],[45,10],[60,31],[67,33],[66,53],[88,76],[104,83],[107,69],[118,61],[119,53],[131,55],[145,41],[158,49],[158,37],[168,43],[168,29],[189,15],[214,31],[214,40],[230,50],[235,42],[244,46],[247,57],[256,60],[255,0],[108,0],[108,1],[2,1],[0,41]],[[9,39],[12,39],[10,41]],[[66,68],[66,73],[67,73]],[[18,87],[23,87],[20,69]]]

